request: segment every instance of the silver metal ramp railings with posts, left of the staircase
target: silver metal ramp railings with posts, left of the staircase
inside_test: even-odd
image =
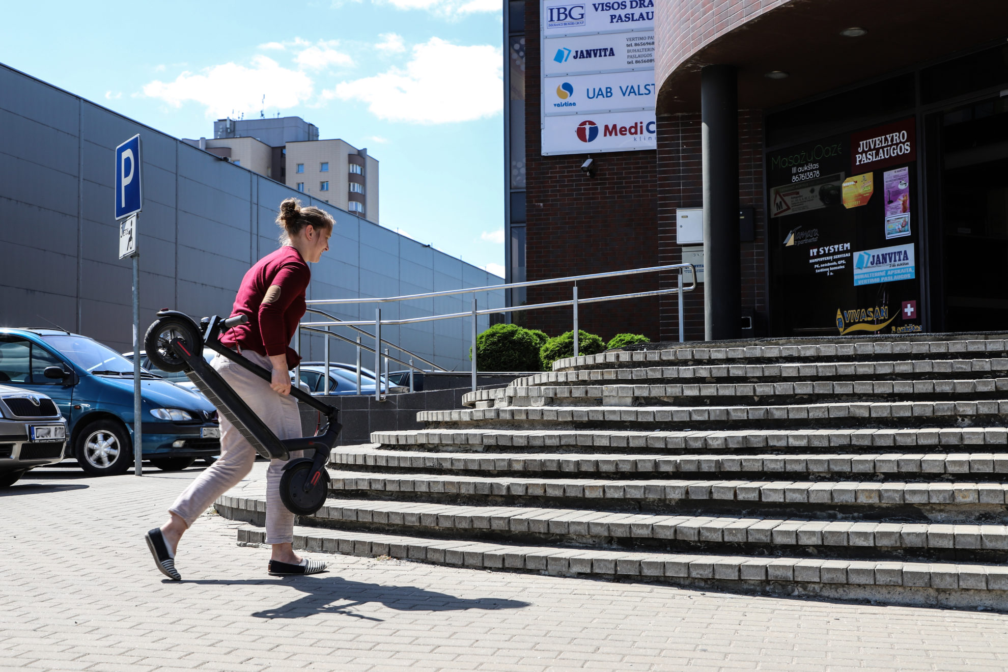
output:
[[[689,273],[691,275],[692,283],[688,287],[683,287],[682,274],[687,269],[689,270]],[[612,295],[609,295],[609,296],[596,296],[596,297],[592,297],[592,298],[583,298],[583,299],[579,299],[578,298],[578,281],[579,280],[595,280],[595,279],[600,279],[600,278],[610,278],[610,277],[617,277],[617,276],[624,276],[624,275],[634,275],[634,274],[639,274],[639,273],[655,273],[655,272],[659,272],[659,271],[675,271],[675,270],[678,271],[678,273],[677,273],[677,283],[676,283],[677,286],[675,288],[673,288],[673,289],[657,289],[657,290],[645,291],[645,292],[632,292],[632,293],[629,293],[629,294],[612,294]],[[568,301],[551,301],[549,303],[534,303],[532,305],[517,305],[517,306],[504,307],[504,308],[485,308],[483,310],[477,309],[476,296],[475,296],[477,293],[488,292],[488,291],[495,291],[495,290],[498,290],[498,289],[511,289],[511,288],[515,288],[515,287],[532,287],[532,286],[536,286],[536,285],[559,284],[559,283],[563,283],[563,282],[574,282],[573,297],[572,297],[571,300],[568,300]],[[358,392],[358,394],[360,394],[360,387],[361,387],[361,383],[360,383],[360,381],[361,381],[360,361],[361,361],[361,349],[363,348],[364,350],[367,350],[369,352],[373,352],[374,355],[375,355],[375,369],[374,369],[375,376],[376,376],[376,381],[375,381],[375,398],[378,399],[378,400],[380,400],[381,399],[381,373],[380,372],[381,372],[381,346],[382,346],[381,326],[382,326],[382,324],[390,324],[390,325],[391,324],[396,324],[396,325],[398,325],[398,324],[414,324],[414,323],[418,323],[418,322],[429,322],[429,321],[434,321],[434,320],[438,320],[438,319],[454,319],[456,317],[472,317],[473,318],[473,345],[472,345],[472,357],[471,357],[471,360],[472,360],[472,372],[471,373],[472,373],[472,389],[475,392],[476,391],[476,340],[477,340],[477,326],[476,326],[476,322],[477,322],[477,318],[479,317],[479,315],[486,315],[486,314],[492,314],[492,313],[498,313],[498,312],[520,312],[522,310],[535,310],[535,309],[538,309],[538,308],[552,308],[552,307],[560,307],[560,306],[566,306],[566,305],[573,306],[574,307],[574,356],[578,357],[578,353],[579,353],[579,348],[578,348],[578,346],[579,346],[579,343],[578,343],[578,341],[579,341],[578,306],[581,305],[582,303],[601,303],[603,301],[616,301],[616,300],[622,300],[622,299],[627,299],[627,298],[640,298],[640,297],[644,297],[644,296],[659,296],[659,295],[664,295],[664,294],[677,293],[678,297],[679,297],[678,298],[679,343],[682,343],[684,341],[684,328],[683,328],[683,324],[682,324],[682,318],[683,318],[682,294],[683,294],[683,292],[692,291],[696,288],[697,288],[697,269],[694,267],[692,264],[669,264],[669,265],[666,265],[666,266],[650,266],[648,268],[635,268],[635,269],[630,269],[630,270],[626,270],[626,271],[611,271],[611,272],[607,272],[607,273],[592,273],[592,274],[589,274],[589,275],[574,275],[574,276],[569,276],[569,277],[565,277],[565,278],[553,278],[553,279],[549,279],[549,280],[532,280],[532,281],[529,281],[529,282],[512,282],[512,283],[501,284],[501,285],[487,285],[487,286],[484,286],[484,287],[469,287],[469,288],[465,288],[465,289],[450,289],[450,290],[439,291],[439,292],[426,292],[424,294],[407,294],[407,295],[403,295],[403,296],[386,296],[386,297],[375,297],[375,298],[312,299],[310,301],[307,301],[306,303],[313,304],[313,305],[320,305],[320,304],[330,304],[330,305],[333,305],[333,304],[348,304],[348,303],[386,303],[386,302],[391,302],[391,301],[407,301],[407,300],[411,300],[411,299],[432,298],[432,297],[436,297],[436,296],[451,296],[451,295],[454,295],[454,294],[472,293],[474,295],[473,296],[473,309],[470,310],[470,311],[467,311],[467,312],[453,312],[453,313],[447,313],[447,314],[443,314],[443,315],[428,315],[428,316],[424,316],[424,317],[406,317],[406,318],[402,318],[402,319],[382,319],[381,318],[381,307],[376,307],[375,308],[375,319],[374,319],[374,321],[368,321],[368,320],[342,320],[342,319],[340,319],[340,318],[338,318],[338,317],[336,317],[334,315],[331,315],[331,314],[329,314],[327,312],[324,312],[322,310],[319,310],[317,308],[307,308],[307,310],[310,311],[310,312],[326,315],[332,321],[328,321],[328,322],[327,321],[301,322],[301,323],[298,324],[297,335],[295,337],[295,339],[296,339],[296,345],[298,347],[298,350],[300,348],[300,329],[301,328],[304,328],[305,330],[312,331],[312,332],[325,333],[325,334],[330,335],[330,337],[334,337],[334,338],[337,338],[337,339],[341,339],[343,341],[347,341],[348,343],[354,343],[354,342],[351,342],[350,339],[347,339],[346,337],[343,337],[343,335],[341,335],[339,333],[335,333],[335,332],[331,331],[330,330],[331,326],[349,326],[349,327],[353,328],[356,331],[359,331],[359,332],[361,332],[361,333],[363,333],[365,335],[368,335],[368,337],[371,337],[372,339],[374,339],[375,340],[375,347],[374,347],[374,349],[362,346],[361,343],[360,343],[360,337],[358,337],[357,342],[354,343],[354,345],[357,346],[357,363],[358,363],[358,366],[357,366],[357,392]],[[364,329],[360,328],[361,326],[370,326],[370,325],[374,325],[374,328],[375,328],[374,334],[368,333]],[[320,327],[325,327],[325,328],[320,328]],[[329,360],[329,339],[327,339],[325,343],[326,343],[326,372],[327,372],[327,385],[326,385],[327,389],[326,389],[326,393],[328,394],[329,393],[329,389],[328,389],[329,388],[329,385],[328,385],[328,373],[329,373],[329,365],[330,365],[330,360]],[[412,357],[415,357],[416,359],[420,360],[424,364],[428,364],[428,365],[430,365],[432,367],[440,369],[442,371],[445,370],[444,368],[438,367],[437,365],[434,365],[431,362],[427,362],[426,360],[418,357],[417,355],[414,355],[413,353],[410,353],[407,350],[404,350],[404,349],[402,349],[402,348],[400,348],[398,346],[394,346],[392,344],[389,344],[389,345],[392,346],[393,348],[395,348],[400,353],[404,353],[405,355],[410,355]],[[417,370],[416,367],[413,366],[412,360],[410,360],[409,363],[407,364],[407,363],[403,362],[402,360],[399,360],[399,359],[394,358],[394,357],[390,357],[388,355],[388,350],[386,349],[386,351],[385,351],[385,367],[386,367],[386,370],[388,368],[388,362],[389,362],[389,360],[392,360],[393,362],[396,362],[398,364],[402,364],[404,366],[409,367],[409,370],[410,370],[410,377],[409,377],[409,379],[410,379],[410,391],[412,391],[412,380],[413,380],[412,373],[413,373],[413,371]],[[297,376],[297,381],[296,382],[297,382],[297,384],[299,384],[300,383],[300,372],[299,372],[299,369],[298,369],[298,371],[297,371],[297,373],[295,375]],[[386,385],[388,385],[388,384],[389,384],[389,382],[386,379]]]

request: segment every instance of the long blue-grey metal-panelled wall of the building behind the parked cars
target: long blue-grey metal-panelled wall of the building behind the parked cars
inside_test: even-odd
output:
[[[79,322],[83,333],[113,348],[132,348],[130,262],[117,254],[112,150],[136,133],[143,142],[144,325],[160,307],[196,316],[229,312],[249,265],[277,249],[276,209],[289,196],[317,205],[336,220],[330,252],[312,266],[311,298],[456,289],[463,278],[489,284],[485,271],[459,259],[3,66],[0,91],[5,94],[0,100],[0,222],[14,224],[0,227],[0,241],[14,260],[0,266],[0,323],[44,325],[34,316],[38,313],[69,328]],[[78,137],[79,125],[83,137]],[[77,175],[82,163],[83,178]],[[493,301],[503,304],[503,292],[496,292]],[[469,305],[468,297],[454,296],[383,304],[382,314],[463,312]],[[370,320],[374,308],[354,304],[327,310],[343,319]],[[469,329],[463,318],[389,325],[383,335],[449,369],[465,370]],[[349,328],[342,332],[355,337]],[[305,338],[304,356],[321,359],[322,344],[320,337]],[[351,362],[355,348],[333,342],[331,352]],[[373,363],[373,356],[365,354],[364,365]]]

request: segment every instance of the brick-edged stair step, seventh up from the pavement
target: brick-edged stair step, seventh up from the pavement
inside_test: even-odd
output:
[[[1008,363],[1008,360],[1005,362]],[[463,404],[477,407],[576,405],[601,399],[603,406],[632,406],[637,403],[648,405],[655,400],[669,403],[689,401],[709,403],[719,398],[742,397],[755,400],[778,397],[781,401],[787,401],[795,396],[854,399],[886,397],[907,400],[930,396],[942,400],[956,400],[967,399],[974,395],[996,395],[1006,391],[1008,391],[1008,378],[686,385],[538,385],[508,386],[496,390],[469,392],[463,397]]]

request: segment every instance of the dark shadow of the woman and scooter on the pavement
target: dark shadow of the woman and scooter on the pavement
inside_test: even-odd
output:
[[[382,621],[383,619],[367,617],[351,611],[355,607],[368,602],[381,602],[385,607],[399,612],[464,612],[471,609],[522,609],[529,606],[529,602],[518,599],[496,597],[468,599],[412,585],[364,583],[349,581],[341,576],[330,578],[295,576],[275,580],[238,579],[234,581],[205,579],[183,582],[204,585],[289,585],[306,593],[282,607],[253,612],[252,616],[259,619],[303,619],[318,614],[341,614],[366,621]]]

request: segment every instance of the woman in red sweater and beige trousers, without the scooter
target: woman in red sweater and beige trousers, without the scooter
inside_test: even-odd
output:
[[[276,224],[282,230],[280,249],[260,259],[245,274],[235,298],[231,314],[244,314],[248,319],[221,337],[221,343],[272,370],[272,380],[267,383],[221,355],[211,366],[273,433],[284,439],[301,434],[297,402],[290,397],[289,373],[300,358],[288,344],[305,311],[304,292],[311,279],[308,262],[318,262],[329,250],[334,221],[319,208],[301,208],[295,198],[287,198],[280,204]],[[303,451],[292,451],[290,457],[301,454]],[[178,496],[168,509],[167,522],[146,535],[162,574],[181,579],[174,557],[182,533],[217,498],[248,475],[255,456],[255,448],[222,416],[221,457]],[[266,543],[273,548],[267,570],[274,576],[314,574],[324,571],[326,563],[300,558],[293,551],[294,515],[279,495],[284,464],[273,459],[266,471]]]

